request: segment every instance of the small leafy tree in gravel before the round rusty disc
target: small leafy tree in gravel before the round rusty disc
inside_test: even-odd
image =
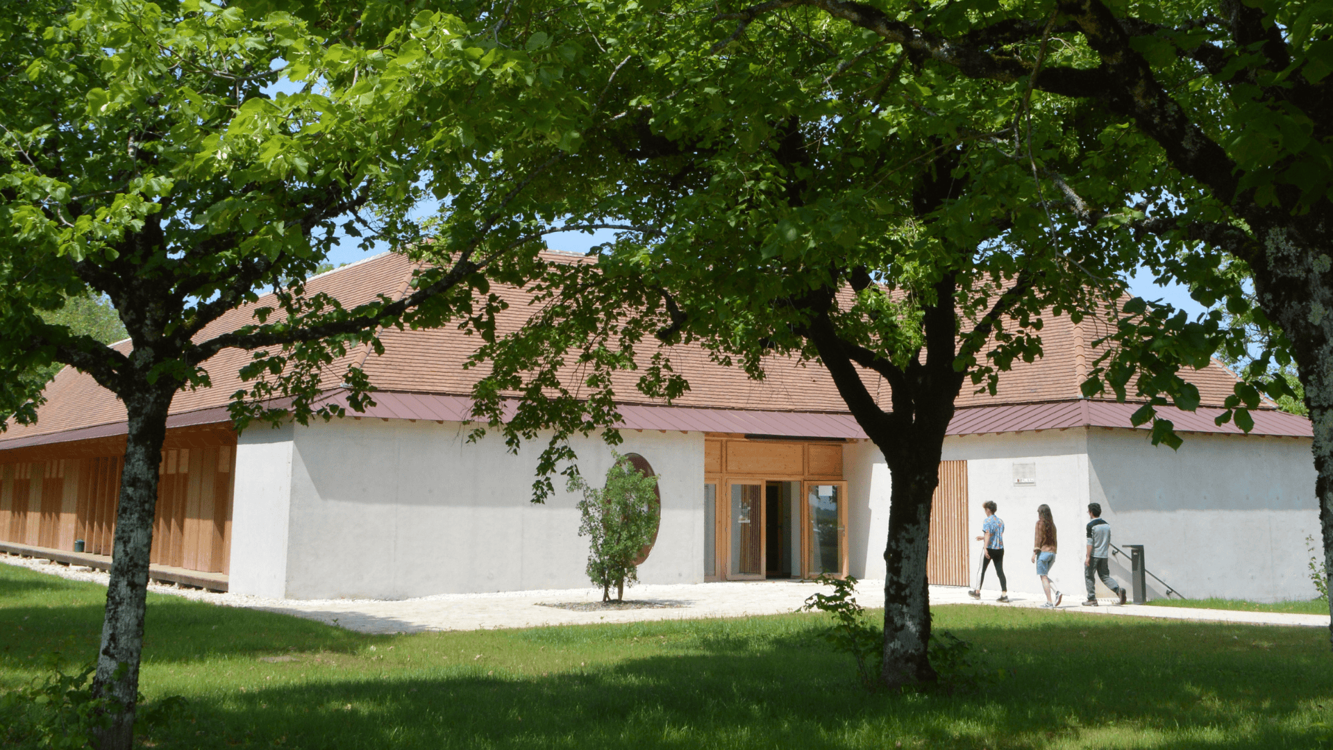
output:
[[[625,598],[625,585],[639,581],[637,562],[657,532],[657,478],[636,468],[628,458],[613,452],[615,466],[607,483],[596,488],[583,476],[569,480],[571,491],[581,491],[579,535],[588,536],[588,578],[601,586],[601,601]]]

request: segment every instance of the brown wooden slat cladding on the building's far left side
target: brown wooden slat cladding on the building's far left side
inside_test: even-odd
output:
[[[236,451],[217,439],[207,444],[209,436],[227,438],[196,431],[168,440],[163,451],[149,554],[155,565],[228,573]],[[85,552],[112,554],[123,470],[116,455],[0,464],[0,540],[73,550],[83,539]]]

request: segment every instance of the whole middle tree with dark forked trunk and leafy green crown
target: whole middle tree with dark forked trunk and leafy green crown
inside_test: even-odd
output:
[[[609,424],[616,370],[645,366],[652,395],[688,387],[669,348],[629,354],[653,336],[754,378],[773,355],[818,362],[893,471],[884,678],[898,685],[933,677],[926,528],[954,400],[1040,356],[1045,316],[1114,314],[1140,259],[1114,222],[1080,219],[1056,169],[1133,169],[1137,144],[1085,108],[1026,89],[1013,107],[1006,87],[864,55],[862,32],[814,17],[714,45],[694,44],[717,28],[705,15],[589,21],[629,63],[616,123],[571,163],[576,220],[633,228],[551,282],[528,331],[479,355],[496,367],[481,407],[499,420],[501,394],[555,390]],[[1098,198],[1130,220],[1122,190]],[[561,382],[571,359],[593,376]],[[543,423],[523,414],[505,428],[531,435]]]

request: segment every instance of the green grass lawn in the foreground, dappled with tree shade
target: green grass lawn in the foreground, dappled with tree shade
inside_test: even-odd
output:
[[[104,594],[0,565],[0,689],[96,649]],[[936,627],[1012,677],[868,694],[822,615],[420,635],[149,595],[155,747],[1329,747],[1324,629],[952,606]],[[901,743],[901,745],[900,745]]]

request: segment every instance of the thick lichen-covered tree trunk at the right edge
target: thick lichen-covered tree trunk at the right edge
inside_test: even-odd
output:
[[[1260,307],[1286,334],[1305,387],[1324,565],[1333,570],[1333,247],[1308,242],[1305,234],[1289,227],[1261,232],[1262,259],[1250,266]],[[1333,647],[1333,599],[1329,609]]]

